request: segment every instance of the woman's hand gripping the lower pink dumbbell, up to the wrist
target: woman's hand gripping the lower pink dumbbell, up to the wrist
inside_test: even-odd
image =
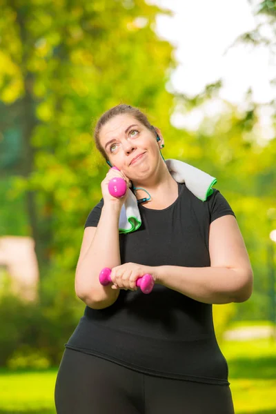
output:
[[[112,289],[137,290],[136,280],[150,273],[156,281],[156,266],[144,266],[137,263],[124,263],[112,268],[110,277],[113,282]]]

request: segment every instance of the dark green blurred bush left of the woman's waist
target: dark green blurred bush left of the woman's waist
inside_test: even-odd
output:
[[[12,294],[8,278],[0,292],[0,366],[46,368],[57,365],[64,344],[83,313],[72,275],[43,279],[39,300],[26,302]]]

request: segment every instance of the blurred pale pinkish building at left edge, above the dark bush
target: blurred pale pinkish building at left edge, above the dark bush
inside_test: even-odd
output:
[[[39,266],[34,252],[34,240],[31,237],[0,237],[1,287],[5,273],[11,278],[14,293],[28,300],[37,297]]]

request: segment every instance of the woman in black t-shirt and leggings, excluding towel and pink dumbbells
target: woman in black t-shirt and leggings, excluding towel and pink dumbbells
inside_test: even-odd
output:
[[[172,178],[161,131],[137,108],[104,113],[95,143],[119,170],[106,174],[86,220],[75,277],[86,308],[59,367],[57,413],[233,414],[212,315],[212,304],[244,302],[253,290],[233,210],[219,190],[201,201]],[[124,197],[108,192],[114,177],[125,179]],[[119,234],[133,189],[142,224]],[[99,283],[105,267],[109,286]],[[155,280],[148,295],[135,283],[146,273]]]

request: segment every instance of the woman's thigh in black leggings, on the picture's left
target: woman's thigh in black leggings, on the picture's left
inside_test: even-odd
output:
[[[106,359],[66,348],[55,384],[57,414],[139,414],[143,377]]]

